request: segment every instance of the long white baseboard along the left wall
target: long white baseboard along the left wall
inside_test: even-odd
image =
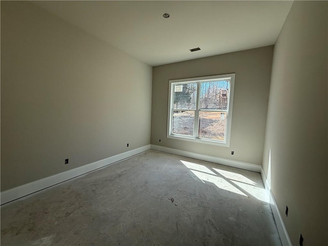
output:
[[[26,183],[25,185],[22,186],[18,186],[6,191],[1,192],[1,204],[5,204],[7,202],[13,201],[15,199],[18,199],[20,197],[32,194],[34,192],[43,190],[45,188],[51,187],[53,185],[56,185],[57,183],[66,181],[68,179],[71,178],[75,178],[77,176],[86,174],[88,172],[94,171],[98,168],[103,168],[107,165],[110,165],[116,161],[128,158],[130,156],[139,154],[141,152],[144,152],[146,150],[150,149],[150,145],[146,145],[146,146],[142,146],[140,148],[134,149],[134,150],[130,150],[118,155],[114,155],[111,157],[108,157],[106,159],[103,160],[98,160],[95,161],[93,163],[78,167],[78,168],[74,168],[62,173],[58,173],[46,178],[42,178],[30,183]]]

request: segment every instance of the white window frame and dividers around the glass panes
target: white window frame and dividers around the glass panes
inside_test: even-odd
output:
[[[228,109],[222,110],[227,113],[227,125],[226,125],[226,141],[215,140],[215,139],[204,139],[197,137],[198,135],[198,122],[199,122],[199,100],[200,100],[200,83],[207,81],[216,81],[230,79],[230,92],[228,98]],[[180,135],[174,134],[172,132],[173,128],[173,88],[176,84],[186,84],[186,83],[197,83],[197,95],[196,95],[196,108],[195,110],[195,118],[194,118],[194,136]],[[232,122],[232,106],[233,106],[233,96],[234,96],[234,86],[235,86],[235,73],[230,74],[222,74],[222,75],[214,75],[214,76],[206,76],[206,77],[196,77],[196,78],[183,78],[183,79],[173,79],[169,80],[169,106],[168,106],[168,125],[167,125],[167,137],[179,140],[187,140],[192,142],[200,142],[203,144],[217,145],[217,146],[230,146],[230,135],[231,135],[231,122]],[[219,110],[215,110],[219,111]],[[195,137],[196,136],[196,137]]]

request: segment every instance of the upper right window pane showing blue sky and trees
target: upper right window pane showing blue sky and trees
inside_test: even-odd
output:
[[[230,80],[200,83],[200,109],[227,110]]]

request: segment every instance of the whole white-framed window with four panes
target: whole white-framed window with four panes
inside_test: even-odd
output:
[[[235,74],[169,81],[168,137],[229,147]]]

